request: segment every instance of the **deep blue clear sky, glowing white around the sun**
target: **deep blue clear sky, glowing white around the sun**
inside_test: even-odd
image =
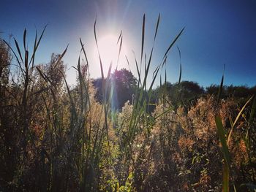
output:
[[[122,30],[124,53],[121,53],[118,69],[130,68],[136,76],[132,50],[140,62],[144,13],[147,56],[152,47],[157,17],[159,13],[161,15],[151,74],[172,40],[185,27],[167,55],[162,77],[166,69],[167,80],[178,81],[178,46],[181,50],[181,80],[195,81],[204,87],[219,84],[225,65],[225,85],[256,85],[255,0],[1,0],[0,35],[15,46],[10,34],[23,43],[26,28],[28,43],[32,45],[35,31],[41,32],[47,24],[36,63],[47,64],[51,53],[62,53],[69,45],[63,60],[67,64],[67,80],[72,85],[76,80],[72,66],[78,64],[80,55],[79,38],[86,47],[91,77],[100,76],[94,40],[94,21],[97,18],[99,52],[108,55],[109,45],[101,39],[107,36],[118,39]],[[103,63],[107,73],[109,62]],[[113,59],[113,66],[116,66],[116,59]]]

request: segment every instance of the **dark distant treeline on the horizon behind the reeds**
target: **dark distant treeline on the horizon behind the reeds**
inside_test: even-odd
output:
[[[112,74],[113,89],[113,109],[121,110],[125,102],[129,101],[132,104],[133,96],[135,95],[136,86],[138,80],[127,69],[116,70]],[[102,78],[92,80],[94,88],[96,88],[96,99],[102,102]],[[195,101],[202,96],[214,95],[217,96],[219,91],[219,85],[212,84],[206,88],[200,86],[194,81],[181,81],[180,83],[165,82],[154,88],[151,94],[151,98],[148,101],[151,104],[156,104],[159,99],[167,97],[173,104],[195,104]],[[225,85],[222,88],[222,99],[233,98],[237,100],[246,100],[249,96],[256,94],[256,85],[248,87],[247,85]],[[178,99],[178,100],[177,100]],[[151,112],[155,107],[149,107]]]

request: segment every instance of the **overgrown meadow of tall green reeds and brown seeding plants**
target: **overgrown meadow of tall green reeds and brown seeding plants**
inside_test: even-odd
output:
[[[159,18],[153,42],[158,28]],[[68,47],[37,64],[45,30],[31,51],[26,29],[23,42],[0,42],[0,191],[256,191],[255,87],[227,94],[223,73],[219,85],[194,96],[181,65],[175,86],[165,72],[154,87],[184,28],[149,74],[154,43],[144,57],[144,15],[138,79],[121,79],[111,65],[104,72],[99,53],[99,88],[82,39],[74,87],[62,61]],[[118,45],[120,53],[122,34]],[[132,98],[117,110],[118,83]]]

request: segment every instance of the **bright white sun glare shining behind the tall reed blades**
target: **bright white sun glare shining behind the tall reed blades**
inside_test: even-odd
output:
[[[127,55],[127,47],[124,42],[122,42],[121,52],[118,59],[120,47],[120,40],[118,42],[118,36],[113,34],[105,34],[104,36],[99,37],[98,46],[99,54],[102,59],[102,67],[105,74],[108,72],[108,68],[111,63],[112,69],[116,69],[117,62],[118,66],[124,66],[124,62],[127,62],[125,59],[125,55]],[[94,55],[96,56],[96,59],[99,60],[97,47],[94,48]]]

